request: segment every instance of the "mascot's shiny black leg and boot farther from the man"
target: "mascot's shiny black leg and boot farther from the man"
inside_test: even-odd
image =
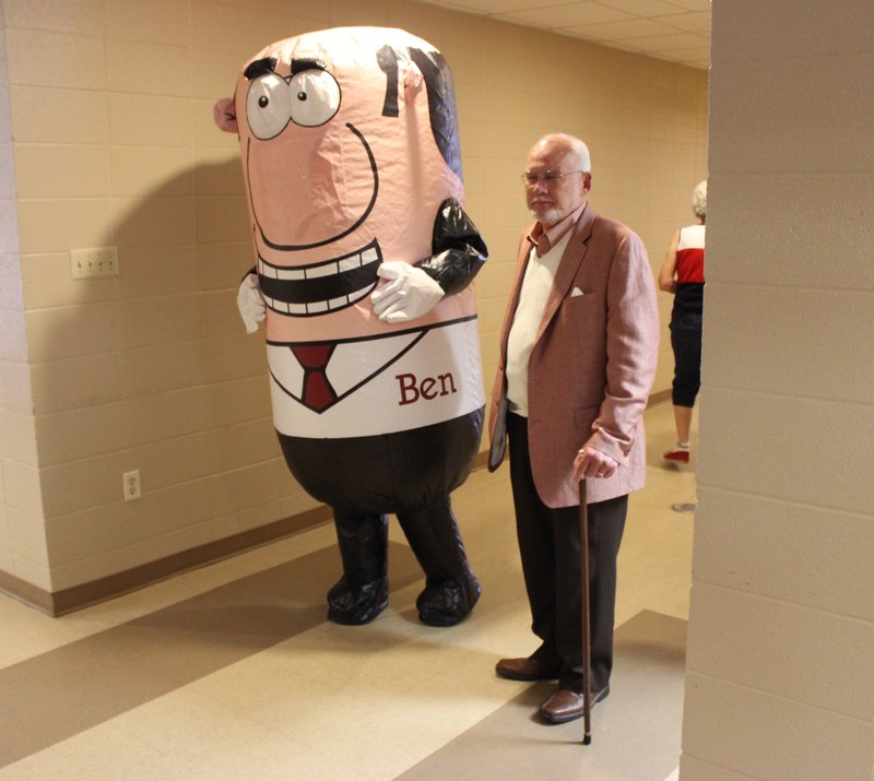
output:
[[[328,592],[328,619],[367,624],[389,602],[388,519],[334,509],[343,577]]]

